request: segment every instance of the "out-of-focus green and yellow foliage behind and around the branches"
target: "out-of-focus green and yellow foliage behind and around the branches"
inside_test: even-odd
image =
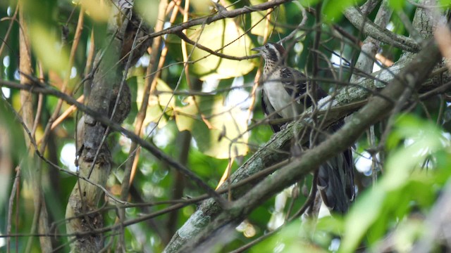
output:
[[[221,1],[228,9],[241,8],[265,1]],[[226,18],[208,25],[190,27],[187,37],[192,41],[207,46],[214,51],[228,56],[250,56],[250,49],[261,45],[266,39],[278,41],[290,34],[302,22],[302,6],[314,6],[319,1],[294,1],[283,4],[270,14],[271,22],[265,22],[266,11],[240,15],[237,18]],[[402,11],[412,18],[415,7],[407,1],[389,1],[390,6]],[[82,95],[82,80],[89,70],[87,56],[92,46],[104,48],[106,25],[109,9],[97,1],[56,1],[56,0],[24,0],[25,15],[29,21],[30,41],[32,47],[32,68],[35,77],[43,77],[44,81],[55,89],[61,89],[64,77],[70,75],[70,83],[66,93],[74,98]],[[184,6],[182,1],[181,6]],[[298,30],[297,41],[287,41],[285,46],[290,50],[287,62],[299,70],[311,72],[311,45],[315,31],[321,29],[321,51],[319,76],[332,78],[330,65],[339,68],[340,64],[350,67],[357,59],[359,48],[333,37],[331,24],[338,25],[354,37],[364,39],[362,34],[350,22],[342,17],[342,10],[355,4],[355,1],[323,1],[321,17],[324,23],[314,27],[314,16],[307,17],[308,29]],[[80,8],[82,6],[82,8]],[[145,17],[147,25],[153,27],[158,11],[157,1],[137,1],[139,12]],[[19,42],[18,22],[16,19],[17,1],[0,2],[0,52],[1,79],[18,82]],[[73,66],[68,66],[70,46],[73,44],[75,27],[80,10],[83,10],[85,24],[80,37],[80,44],[75,54]],[[377,8],[376,8],[377,10]],[[187,9],[190,19],[209,15],[212,12],[209,1],[192,1]],[[369,13],[372,20],[375,12]],[[177,13],[173,24],[183,22],[183,13]],[[166,20],[165,27],[171,24]],[[409,35],[400,18],[393,15],[389,22],[389,30],[396,34]],[[94,36],[94,38],[93,38]],[[161,68],[160,79],[156,84],[156,92],[149,99],[149,108],[144,122],[143,138],[154,143],[164,153],[172,157],[180,157],[184,148],[188,148],[187,167],[199,175],[209,186],[215,188],[228,167],[228,157],[235,162],[232,171],[246,161],[259,146],[272,136],[271,129],[265,124],[255,124],[264,119],[257,104],[252,103],[254,77],[261,66],[257,58],[246,60],[228,60],[211,56],[191,45],[187,45],[187,56],[183,55],[183,44],[173,34],[163,36],[162,47],[167,47],[167,56]],[[161,48],[158,48],[161,50]],[[154,52],[151,52],[154,53]],[[402,51],[383,45],[381,51],[386,58],[396,61]],[[342,59],[340,61],[340,56]],[[146,53],[128,72],[128,85],[132,91],[132,112],[123,126],[134,129],[137,110],[141,107],[144,76],[149,65],[150,56]],[[184,61],[189,60],[188,72],[184,72]],[[342,72],[342,81],[350,79],[350,72]],[[320,83],[327,91],[340,89],[333,82]],[[6,233],[6,217],[8,215],[8,198],[15,179],[15,168],[21,164],[23,169],[30,166],[27,160],[27,148],[24,145],[23,127],[13,111],[20,112],[20,94],[17,89],[1,88],[0,100],[0,233]],[[190,91],[202,91],[198,96],[190,96]],[[57,99],[44,96],[42,115],[37,124],[36,139],[42,136],[49,116],[56,108]],[[12,108],[8,106],[12,105]],[[34,96],[37,105],[37,96]],[[440,105],[444,106],[439,113]],[[62,111],[69,108],[63,104]],[[426,112],[424,108],[427,108]],[[442,116],[443,115],[443,116]],[[395,120],[390,131],[383,156],[383,167],[376,166],[371,170],[371,155],[367,149],[371,147],[368,136],[362,136],[356,143],[354,160],[357,162],[357,181],[359,197],[350,213],[345,217],[320,219],[312,224],[296,220],[284,226],[268,240],[255,245],[251,252],[323,252],[336,250],[340,245],[342,252],[352,252],[358,247],[370,247],[378,251],[383,249],[383,240],[390,236],[393,249],[399,252],[409,251],[409,245],[415,242],[424,231],[424,220],[443,188],[449,184],[450,177],[450,104],[443,100],[426,101],[418,105],[409,115],[402,115]],[[63,169],[75,171],[75,125],[80,113],[74,112],[51,132],[49,146],[45,156]],[[247,131],[249,126],[252,129]],[[378,141],[385,129],[385,122],[376,125]],[[190,134],[186,137],[187,132]],[[185,135],[185,136],[184,136]],[[188,141],[183,141],[187,138]],[[376,142],[377,142],[376,141]],[[114,195],[120,195],[123,168],[130,152],[130,141],[114,134],[109,139],[114,167],[109,178],[107,189]],[[184,145],[187,145],[184,146]],[[381,153],[382,155],[382,153]],[[75,185],[75,176],[57,171],[43,164],[42,187],[48,206],[51,221],[56,224],[57,233],[65,233],[63,225],[64,212],[68,195]],[[153,202],[172,200],[175,188],[181,187],[183,195],[189,198],[203,193],[194,183],[180,181],[180,175],[156,160],[146,150],[141,150],[137,174],[130,189],[130,202]],[[373,183],[374,174],[382,174],[377,183]],[[299,183],[302,189],[311,186],[310,177]],[[181,185],[180,185],[181,183]],[[301,194],[293,199],[290,191],[286,193],[281,207],[275,206],[277,197],[273,197],[252,212],[245,223],[240,225],[240,232],[230,240],[226,247],[218,249],[228,252],[245,243],[268,233],[280,226],[285,219],[289,206],[299,209],[305,201]],[[18,198],[11,211],[14,233],[30,233],[32,226],[32,190],[27,181],[21,181]],[[288,203],[290,205],[288,205]],[[137,218],[142,213],[155,212],[168,204],[133,207],[126,210],[128,218]],[[280,209],[281,208],[281,209]],[[128,252],[160,252],[171,238],[176,228],[187,221],[196,209],[189,205],[177,211],[177,215],[166,214],[128,226],[125,229],[125,240]],[[281,216],[280,216],[281,214]],[[104,212],[106,224],[116,220],[116,210]],[[175,219],[175,220],[174,220]],[[174,223],[169,226],[168,224]],[[271,225],[271,224],[272,225]],[[274,225],[276,223],[276,225]],[[268,226],[270,228],[268,228]],[[314,232],[312,232],[314,231]],[[313,234],[313,236],[312,236]],[[336,235],[343,235],[342,241]],[[115,242],[113,233],[108,235]],[[19,252],[24,252],[30,237],[12,238],[17,243]],[[67,238],[53,238],[55,245],[63,246],[61,252],[67,252]],[[39,252],[39,240],[30,242],[31,252]],[[66,246],[65,246],[66,245]],[[5,250],[5,239],[0,239],[0,251]]]

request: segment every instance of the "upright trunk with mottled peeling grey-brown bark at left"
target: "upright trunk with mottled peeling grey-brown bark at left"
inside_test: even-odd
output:
[[[111,41],[111,44],[106,43],[109,46],[102,54],[98,54],[98,67],[94,72],[87,105],[99,115],[111,117],[116,97],[122,96],[119,98],[120,103],[116,113],[111,117],[113,122],[121,124],[130,110],[130,91],[126,84],[123,84],[121,89],[123,73],[119,69],[120,65],[116,63],[121,56],[122,38],[128,21],[117,8],[111,8],[111,10],[114,13],[111,13],[109,36],[106,38]],[[106,186],[111,170],[111,153],[105,138],[111,131],[90,115],[84,115],[79,126],[81,130],[78,131],[80,134],[78,137],[82,138],[80,141],[82,144],[79,147],[79,174],[100,186]],[[104,235],[93,232],[104,226],[103,216],[92,213],[97,209],[103,195],[101,188],[87,181],[78,180],[75,184],[66,207],[67,233],[76,235],[70,244],[71,252],[99,252],[104,247]]]

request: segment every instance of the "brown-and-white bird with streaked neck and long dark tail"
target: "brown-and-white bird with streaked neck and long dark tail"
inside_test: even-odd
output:
[[[312,105],[311,96],[307,94],[307,77],[299,70],[284,64],[286,53],[280,44],[266,43],[264,46],[252,48],[252,51],[259,52],[264,59],[261,107],[270,119],[271,129],[276,133],[288,123],[274,124],[271,123],[273,119],[293,120]],[[321,99],[328,94],[318,87],[316,95]],[[344,122],[340,120],[326,131],[338,131],[342,124]],[[324,204],[331,212],[347,212],[355,195],[354,163],[350,148],[321,164],[316,185]]]

